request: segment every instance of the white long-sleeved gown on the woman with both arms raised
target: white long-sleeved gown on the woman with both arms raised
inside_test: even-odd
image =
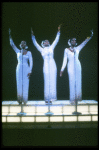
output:
[[[54,60],[54,48],[59,41],[60,32],[57,33],[56,38],[52,45],[49,47],[42,48],[37,43],[35,36],[32,35],[32,41],[35,47],[40,51],[44,64],[43,64],[43,74],[44,74],[44,100],[57,100],[57,67]]]

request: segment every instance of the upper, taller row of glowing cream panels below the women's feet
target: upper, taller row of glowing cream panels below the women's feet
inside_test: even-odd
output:
[[[26,113],[46,113],[48,111],[49,107],[48,106],[23,106],[23,111]],[[16,105],[16,106],[2,106],[2,115],[4,113],[18,113],[21,111],[21,106]],[[59,106],[50,106],[50,111],[53,113],[72,113],[75,111],[75,106],[71,105],[59,105]],[[77,106],[77,111],[78,112],[89,112],[93,114],[98,114],[98,105],[78,105]]]

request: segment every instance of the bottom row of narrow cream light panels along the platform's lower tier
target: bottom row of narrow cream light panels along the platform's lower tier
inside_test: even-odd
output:
[[[6,120],[7,119],[7,120]],[[82,121],[98,121],[98,116],[64,116],[64,122],[82,122]],[[20,121],[20,117],[2,117],[2,122],[49,122],[48,117],[22,117]],[[63,117],[50,117],[50,122],[63,122]]]

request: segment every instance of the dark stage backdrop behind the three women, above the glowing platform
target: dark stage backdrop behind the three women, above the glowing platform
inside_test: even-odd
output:
[[[76,37],[79,45],[90,36],[90,30],[93,29],[94,36],[81,50],[79,60],[82,66],[82,99],[97,100],[97,21],[98,3],[96,2],[2,3],[2,100],[17,99],[17,57],[10,46],[9,28],[15,45],[19,48],[20,42],[25,40],[33,56],[29,100],[43,100],[43,58],[32,43],[31,27],[39,44],[45,39],[52,43],[59,24],[62,24],[61,36],[54,49],[57,65],[57,99],[69,99],[67,67],[63,77],[59,76],[68,39]]]

